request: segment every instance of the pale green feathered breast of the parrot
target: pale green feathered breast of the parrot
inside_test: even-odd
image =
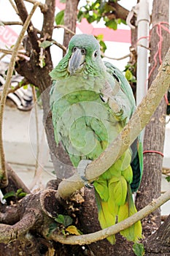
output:
[[[109,105],[102,101],[99,86],[93,83],[96,90],[92,86],[89,89],[84,80],[77,85],[75,77],[68,82],[60,81],[53,88],[53,124],[55,140],[63,143],[77,166],[81,159],[98,158],[122,127]]]

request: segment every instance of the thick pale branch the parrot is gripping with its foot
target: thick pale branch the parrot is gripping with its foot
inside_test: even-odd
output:
[[[170,49],[161,65],[158,75],[152,82],[147,96],[136,109],[131,120],[124,127],[115,141],[98,157],[88,165],[85,170],[85,177],[88,181],[94,181],[106,171],[122,154],[131,143],[134,142],[145,125],[150,121],[152,114],[161,102],[162,97],[169,89],[170,84]],[[161,85],[161,86],[160,86]],[[63,180],[58,187],[58,196],[69,197],[76,189],[83,187],[80,176],[76,173],[71,178]]]

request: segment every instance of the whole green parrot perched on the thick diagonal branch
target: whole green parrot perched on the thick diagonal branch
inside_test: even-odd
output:
[[[115,140],[134,113],[131,86],[119,69],[102,61],[100,45],[89,34],[72,37],[66,55],[50,76],[55,141],[61,141],[75,167],[82,162],[87,166]],[[142,165],[142,143],[136,138],[93,182],[102,229],[136,213],[132,192],[139,187]],[[129,241],[138,241],[142,238],[141,222],[120,234]],[[108,240],[115,244],[114,235]]]

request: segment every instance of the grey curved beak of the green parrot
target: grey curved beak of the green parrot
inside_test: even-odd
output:
[[[74,53],[72,53],[72,56],[69,59],[68,71],[71,75],[74,75],[74,73],[79,73],[84,67],[84,64],[85,55],[82,54],[81,49],[77,48],[77,50]]]

